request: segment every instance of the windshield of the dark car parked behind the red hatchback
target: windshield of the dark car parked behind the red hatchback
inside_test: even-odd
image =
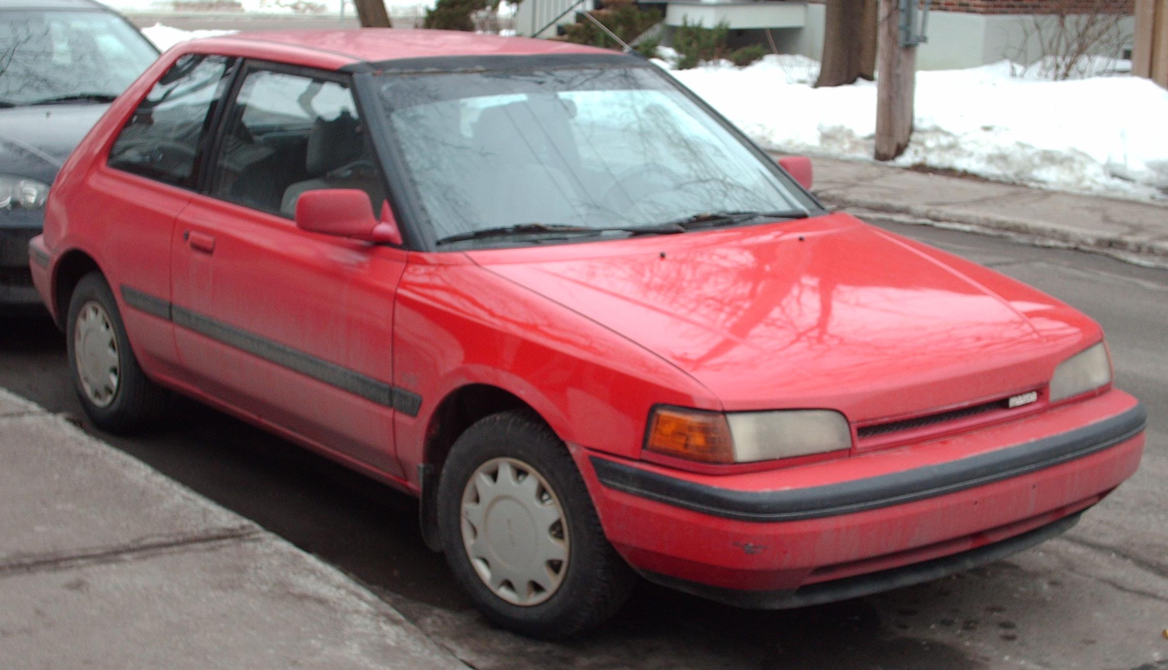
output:
[[[0,12],[0,106],[110,102],[158,51],[105,12]]]

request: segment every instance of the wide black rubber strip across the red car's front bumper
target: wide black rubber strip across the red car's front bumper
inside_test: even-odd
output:
[[[728,519],[794,522],[911,503],[1043,470],[1131,440],[1143,431],[1146,422],[1147,413],[1136,405],[1083,428],[988,454],[865,479],[778,491],[695,484],[599,456],[590,460],[600,483],[610,489]]]

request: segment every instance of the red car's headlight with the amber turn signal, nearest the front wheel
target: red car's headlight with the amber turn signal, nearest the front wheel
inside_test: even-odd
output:
[[[704,463],[753,463],[851,447],[851,428],[839,412],[702,412],[658,408],[645,448]]]

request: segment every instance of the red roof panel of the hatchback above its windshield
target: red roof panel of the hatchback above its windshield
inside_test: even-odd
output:
[[[6,2],[9,0],[0,0]],[[544,54],[612,54],[606,49],[528,37],[500,37],[457,30],[359,28],[349,30],[271,30],[209,37],[221,44],[280,46],[377,63],[436,56],[517,56]],[[195,42],[199,42],[197,40]],[[284,50],[280,49],[280,50]]]

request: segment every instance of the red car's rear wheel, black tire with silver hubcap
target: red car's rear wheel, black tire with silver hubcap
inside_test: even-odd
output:
[[[98,272],[85,275],[74,288],[65,344],[69,375],[82,408],[95,426],[128,435],[158,423],[168,393],[142,373],[130,348],[113,292]],[[100,373],[105,365],[111,366],[109,374]],[[103,379],[95,381],[98,377]]]

